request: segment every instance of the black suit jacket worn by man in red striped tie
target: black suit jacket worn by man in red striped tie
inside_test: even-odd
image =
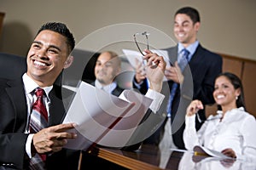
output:
[[[54,86],[49,94],[49,126],[60,124],[65,116],[61,101],[61,88]],[[27,169],[25,134],[27,106],[24,86],[19,80],[0,80],[0,164]],[[47,157],[48,169],[74,169],[78,167],[79,151],[62,149]]]

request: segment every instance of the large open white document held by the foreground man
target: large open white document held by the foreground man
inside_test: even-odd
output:
[[[66,148],[84,150],[90,144],[123,147],[151,104],[143,94],[125,90],[119,97],[81,82],[63,123],[75,122],[77,139]],[[71,131],[71,132],[72,132]]]

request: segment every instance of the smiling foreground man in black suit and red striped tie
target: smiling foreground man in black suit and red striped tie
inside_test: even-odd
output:
[[[79,151],[62,149],[67,139],[75,139],[76,134],[66,132],[74,128],[73,123],[61,124],[65,109],[61,87],[55,84],[61,71],[73,63],[70,53],[74,46],[73,34],[66,25],[46,23],[32,42],[23,76],[15,80],[1,79],[0,166],[38,169],[34,162],[40,162],[40,169],[78,167]],[[30,120],[36,88],[44,89],[43,103],[48,112],[48,123],[32,133]],[[36,155],[41,156],[42,161],[35,160],[32,164]]]

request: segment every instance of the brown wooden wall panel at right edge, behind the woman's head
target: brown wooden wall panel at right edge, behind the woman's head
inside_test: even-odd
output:
[[[243,84],[243,90],[245,94],[245,101],[247,111],[253,116],[256,116],[256,62],[246,61],[244,64],[244,70],[241,77]]]

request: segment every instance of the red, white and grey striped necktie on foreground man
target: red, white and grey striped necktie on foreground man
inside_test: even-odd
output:
[[[48,113],[44,105],[44,89],[37,88],[35,90],[35,95],[37,100],[32,105],[32,113],[30,116],[30,133],[38,133],[41,129],[48,126]],[[44,161],[46,160],[46,155],[36,154],[32,156],[30,160],[31,169],[45,169]]]

